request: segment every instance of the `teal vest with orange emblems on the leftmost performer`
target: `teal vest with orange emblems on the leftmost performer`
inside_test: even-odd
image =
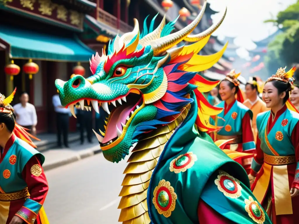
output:
[[[27,187],[25,180],[22,179],[22,171],[26,163],[34,155],[39,155],[41,164],[43,164],[45,157],[22,139],[16,137],[15,142],[0,163],[0,186],[4,192],[12,193],[21,191]],[[16,158],[15,164],[10,163],[11,156]],[[7,170],[10,172],[10,177],[4,178],[2,174],[4,171],[7,172]]]

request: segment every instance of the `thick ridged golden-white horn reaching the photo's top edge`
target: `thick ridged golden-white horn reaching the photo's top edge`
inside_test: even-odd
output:
[[[166,50],[175,46],[177,43],[181,42],[186,36],[188,36],[198,25],[199,21],[202,19],[202,16],[205,12],[206,5],[207,5],[207,0],[205,0],[202,10],[198,14],[198,16],[193,20],[193,22],[191,22],[184,29],[152,41],[150,45],[154,50],[154,56],[158,56],[162,52],[165,52]]]

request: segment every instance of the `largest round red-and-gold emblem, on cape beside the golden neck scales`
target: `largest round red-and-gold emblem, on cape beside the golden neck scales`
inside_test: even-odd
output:
[[[160,180],[158,186],[155,187],[152,199],[158,213],[163,214],[166,218],[170,217],[171,212],[176,208],[176,199],[177,195],[173,187],[170,186],[170,182],[164,179]]]

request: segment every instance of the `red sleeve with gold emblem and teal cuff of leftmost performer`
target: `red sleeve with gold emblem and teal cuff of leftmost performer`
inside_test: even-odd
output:
[[[48,193],[48,181],[36,156],[26,163],[22,171],[22,178],[27,184],[30,197],[16,213],[16,216],[31,224],[32,220],[36,219]]]

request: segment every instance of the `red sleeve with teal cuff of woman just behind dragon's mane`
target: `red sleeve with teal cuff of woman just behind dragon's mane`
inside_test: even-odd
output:
[[[242,118],[242,149],[246,153],[255,153],[255,142],[250,121],[251,118],[247,112]]]

